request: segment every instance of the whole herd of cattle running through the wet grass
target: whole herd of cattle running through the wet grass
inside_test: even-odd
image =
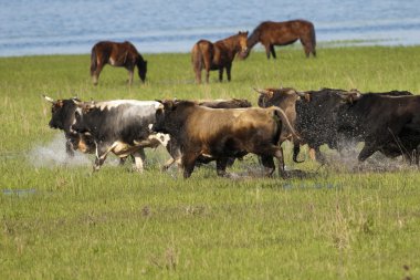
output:
[[[348,143],[364,142],[358,155],[364,162],[376,152],[387,157],[402,155],[419,164],[420,96],[406,91],[364,93],[322,89],[255,90],[259,107],[246,100],[82,102],[53,100],[50,126],[62,129],[66,152],[96,155],[99,169],[109,153],[122,163],[132,156],[144,168],[146,147],[164,145],[170,159],[189,177],[198,163],[216,160],[217,174],[249,153],[260,157],[265,175],[275,169],[285,175],[282,143],[293,143],[293,160],[307,144],[316,159],[325,162],[319,147],[342,152]]]

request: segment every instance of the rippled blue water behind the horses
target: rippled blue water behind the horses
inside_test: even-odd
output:
[[[0,56],[90,53],[99,40],[129,40],[141,53],[189,52],[199,39],[297,18],[315,24],[319,43],[420,44],[419,0],[0,0]]]

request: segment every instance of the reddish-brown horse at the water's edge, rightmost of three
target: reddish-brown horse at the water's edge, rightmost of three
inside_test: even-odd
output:
[[[275,59],[274,45],[292,44],[301,40],[306,58],[312,53],[316,56],[315,28],[306,20],[291,20],[284,22],[264,21],[258,25],[248,39],[249,52],[259,42],[265,48],[266,58],[270,53]],[[249,52],[244,55],[246,58]]]

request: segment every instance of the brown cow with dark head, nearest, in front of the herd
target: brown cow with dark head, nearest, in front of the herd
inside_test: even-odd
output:
[[[180,144],[185,178],[191,176],[200,155],[214,158],[218,175],[225,176],[228,158],[248,153],[261,156],[267,176],[275,169],[275,157],[283,175],[283,149],[277,143],[284,141],[280,139],[283,125],[294,131],[281,108],[208,108],[191,101],[161,104],[153,129],[169,134]]]

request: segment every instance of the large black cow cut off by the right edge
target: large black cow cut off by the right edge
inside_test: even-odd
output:
[[[377,151],[411,159],[420,145],[420,96],[363,94],[340,107],[337,123],[338,133],[365,142],[360,162]],[[417,152],[416,163],[419,164]]]

